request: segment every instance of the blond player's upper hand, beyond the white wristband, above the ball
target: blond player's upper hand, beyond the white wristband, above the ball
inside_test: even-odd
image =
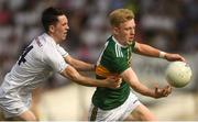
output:
[[[169,62],[176,62],[176,60],[180,60],[180,62],[186,62],[185,58],[183,56],[180,56],[179,54],[169,54],[167,53],[165,55],[165,58]]]

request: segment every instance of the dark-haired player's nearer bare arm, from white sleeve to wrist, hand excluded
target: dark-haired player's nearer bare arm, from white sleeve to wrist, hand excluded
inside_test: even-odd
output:
[[[74,67],[67,66],[65,70],[61,73],[64,77],[75,81],[76,84],[87,87],[107,87],[107,81],[98,80],[81,76]]]

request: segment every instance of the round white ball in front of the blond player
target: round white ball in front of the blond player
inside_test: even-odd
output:
[[[173,62],[166,69],[166,80],[176,88],[185,87],[191,79],[191,68],[184,62]]]

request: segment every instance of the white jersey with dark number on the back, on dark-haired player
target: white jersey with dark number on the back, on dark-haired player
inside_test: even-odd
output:
[[[6,75],[0,87],[0,106],[3,106],[3,101],[11,102],[13,100],[21,100],[29,106],[30,100],[26,98],[31,99],[31,89],[45,81],[53,71],[63,71],[68,66],[64,60],[67,55],[68,53],[46,33],[35,37],[11,71]],[[11,95],[10,101],[4,99],[9,95]]]

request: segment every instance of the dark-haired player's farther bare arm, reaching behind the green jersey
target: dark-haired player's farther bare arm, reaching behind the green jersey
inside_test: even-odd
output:
[[[89,63],[85,63],[85,62],[79,60],[79,59],[75,59],[70,55],[66,56],[65,60],[70,66],[76,68],[77,70],[81,70],[81,71],[94,71],[95,70],[95,64],[89,64]]]

